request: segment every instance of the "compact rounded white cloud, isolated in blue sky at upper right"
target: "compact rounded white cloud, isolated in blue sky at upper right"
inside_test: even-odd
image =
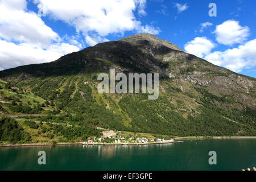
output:
[[[227,20],[216,26],[214,34],[218,43],[232,46],[235,43],[243,43],[249,36],[249,31],[249,27],[242,27],[235,20]]]

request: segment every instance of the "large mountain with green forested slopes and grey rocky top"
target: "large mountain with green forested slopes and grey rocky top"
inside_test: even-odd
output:
[[[159,98],[99,94],[97,76],[159,73]],[[51,63],[6,69],[0,77],[84,121],[121,131],[172,136],[256,135],[256,79],[185,53],[155,35],[97,44]]]

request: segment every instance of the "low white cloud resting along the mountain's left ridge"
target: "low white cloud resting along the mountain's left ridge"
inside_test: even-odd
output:
[[[67,43],[56,43],[46,50],[27,43],[14,44],[0,40],[0,69],[19,65],[46,63],[57,60],[67,53],[79,51],[79,48]]]

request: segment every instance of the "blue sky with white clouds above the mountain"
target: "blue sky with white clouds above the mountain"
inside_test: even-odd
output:
[[[147,32],[256,77],[255,7],[255,0],[0,0],[0,70]]]

